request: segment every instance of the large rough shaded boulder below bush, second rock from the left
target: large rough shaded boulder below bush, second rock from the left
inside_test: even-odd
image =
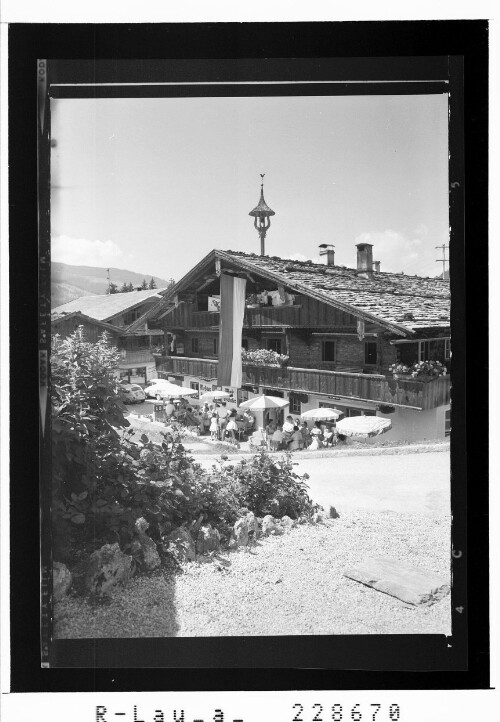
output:
[[[125,586],[132,576],[132,557],[124,554],[118,542],[104,544],[90,555],[85,587],[97,597],[110,596],[118,585]]]

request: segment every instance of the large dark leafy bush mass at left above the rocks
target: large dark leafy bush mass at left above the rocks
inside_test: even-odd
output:
[[[307,475],[293,471],[290,455],[280,460],[265,451],[226,466],[225,457],[207,473],[182,444],[173,425],[161,445],[143,434],[132,440],[113,368],[118,355],[106,335],[96,344],[80,327],[52,351],[52,471],[54,558],[76,561],[103,544],[130,550],[135,522],[162,549],[174,528],[210,522],[228,538],[246,511],[257,516],[314,510]]]

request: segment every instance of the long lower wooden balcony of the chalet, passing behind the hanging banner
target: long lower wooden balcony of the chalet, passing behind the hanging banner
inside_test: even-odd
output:
[[[170,356],[158,359],[157,368],[167,373],[216,378],[217,363],[216,359]],[[449,376],[438,376],[430,381],[396,380],[392,375],[388,377],[382,374],[244,364],[243,384],[338,396],[339,400],[353,398],[417,409],[434,409],[450,402]]]

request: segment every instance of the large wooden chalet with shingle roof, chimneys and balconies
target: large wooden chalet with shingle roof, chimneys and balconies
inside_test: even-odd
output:
[[[245,349],[289,356],[284,368],[243,364],[238,402],[258,393],[288,398],[290,413],[335,406],[348,416],[392,419],[393,439],[449,433],[450,377],[393,378],[397,361],[450,363],[450,292],[442,279],[373,270],[369,244],[357,268],[214,250],[136,324],[160,326],[167,357],[162,375],[184,386],[215,388],[221,273],[245,276]],[[132,324],[131,328],[134,328]]]

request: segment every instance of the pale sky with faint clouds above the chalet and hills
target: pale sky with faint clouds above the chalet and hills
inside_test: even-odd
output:
[[[446,95],[51,101],[52,260],[179,280],[213,248],[436,276],[448,243]],[[446,256],[448,257],[448,256]],[[112,279],[111,279],[112,280]]]

